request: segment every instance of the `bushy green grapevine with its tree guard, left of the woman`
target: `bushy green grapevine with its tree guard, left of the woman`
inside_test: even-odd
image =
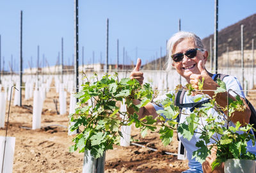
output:
[[[74,137],[74,145],[70,147],[70,152],[76,150],[84,153],[83,172],[104,172],[104,153],[108,149],[113,149],[116,137],[121,136],[121,126],[132,123],[136,128],[141,129],[141,135],[145,136],[148,130],[156,130],[161,126],[159,133],[164,145],[170,144],[173,137],[176,121],[166,121],[164,117],[153,119],[152,116],[138,119],[136,113],[120,111],[120,103],[124,103],[128,108],[136,111],[154,99],[154,92],[149,84],[140,85],[137,80],[121,79],[118,74],[104,75],[98,79],[94,75],[95,82],[87,80],[82,86],[83,89],[76,93],[77,102],[76,112],[70,114],[70,121],[74,124],[70,127],[71,131],[79,129],[79,133]],[[169,94],[169,97],[174,95]],[[141,100],[140,105],[134,105],[132,99]],[[179,108],[175,108],[168,98],[164,101],[162,113],[169,118],[175,119],[179,114]],[[161,112],[159,112],[161,113]],[[161,124],[156,123],[157,119]]]

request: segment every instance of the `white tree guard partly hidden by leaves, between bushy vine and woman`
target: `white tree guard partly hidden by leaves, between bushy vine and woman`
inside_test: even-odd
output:
[[[120,105],[120,112],[127,112],[125,100]],[[125,117],[122,118],[124,119]],[[123,137],[120,137],[120,146],[130,146],[131,126],[121,126],[121,133]]]

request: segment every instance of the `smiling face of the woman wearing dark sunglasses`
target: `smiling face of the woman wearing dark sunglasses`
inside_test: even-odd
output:
[[[177,43],[175,47],[173,47],[172,54],[182,53],[185,54],[189,49],[195,49],[195,40],[194,38],[185,38],[184,40]],[[183,59],[180,62],[173,61],[172,65],[175,67],[177,72],[184,77],[187,81],[189,81],[189,77],[191,74],[200,74],[198,70],[198,62],[202,60],[203,65],[207,60],[208,53],[207,51],[197,50],[196,56],[193,58],[189,58],[184,55]]]

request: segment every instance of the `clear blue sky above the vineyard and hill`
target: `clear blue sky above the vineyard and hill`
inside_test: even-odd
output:
[[[219,1],[219,31],[256,13],[255,0]],[[1,61],[4,69],[10,63],[19,70],[20,10],[23,11],[23,62],[36,66],[37,46],[50,65],[56,64],[64,40],[64,63],[72,64],[74,54],[73,0],[1,0]],[[214,32],[214,0],[80,0],[79,1],[79,63],[84,46],[84,64],[106,59],[106,19],[109,19],[109,63],[116,63],[116,40],[119,40],[119,62],[141,57],[142,64],[166,54],[166,40],[181,29],[201,38]],[[100,56],[102,54],[102,56]],[[13,61],[12,57],[13,56]],[[101,57],[101,58],[100,58]]]

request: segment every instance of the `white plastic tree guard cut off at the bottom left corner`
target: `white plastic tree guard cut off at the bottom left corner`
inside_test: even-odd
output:
[[[5,151],[4,151],[4,142]],[[0,171],[3,168],[4,173],[12,173],[13,169],[13,155],[15,149],[15,137],[0,137]],[[4,156],[4,164],[3,164]]]

